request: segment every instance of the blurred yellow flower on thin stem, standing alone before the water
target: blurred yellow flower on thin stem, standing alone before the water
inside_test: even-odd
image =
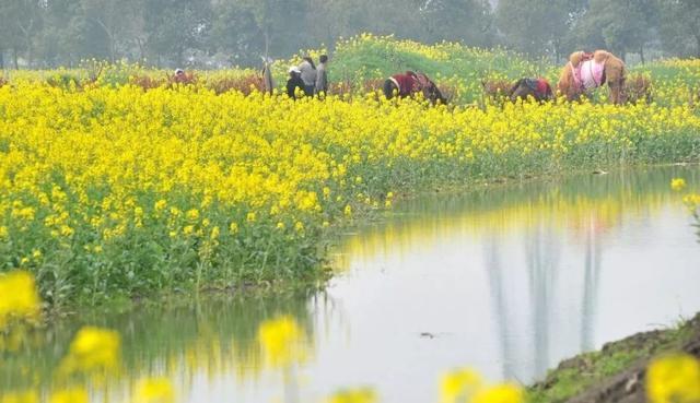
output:
[[[258,341],[268,364],[273,367],[288,367],[306,357],[304,331],[291,317],[262,322],[258,329]]]

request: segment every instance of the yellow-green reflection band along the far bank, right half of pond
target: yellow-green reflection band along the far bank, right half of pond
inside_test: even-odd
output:
[[[583,239],[591,232],[615,230],[625,220],[654,216],[664,205],[678,204],[667,185],[670,171],[651,178],[628,175],[588,177],[581,188],[571,183],[581,180],[575,178],[405,201],[386,223],[363,227],[358,236],[343,239],[334,263],[347,270],[351,261],[369,261],[389,251],[405,254],[433,249],[445,239],[522,233],[542,225]],[[697,178],[698,169],[687,175]]]

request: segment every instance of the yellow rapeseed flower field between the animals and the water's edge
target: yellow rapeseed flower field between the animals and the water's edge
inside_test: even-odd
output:
[[[477,109],[201,86],[0,88],[0,266],[49,304],[313,275],[394,193],[695,162],[689,105]]]

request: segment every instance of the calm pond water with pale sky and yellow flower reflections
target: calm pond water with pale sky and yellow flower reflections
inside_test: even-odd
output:
[[[699,168],[657,168],[406,201],[342,238],[323,293],[81,321],[122,334],[117,402],[145,376],[202,403],[318,402],[354,386],[383,402],[434,402],[456,366],[532,382],[562,358],[700,311],[700,244],[669,190],[677,176],[700,187]],[[279,315],[308,335],[308,358],[285,375],[266,369],[256,342]],[[80,324],[5,357],[0,388],[50,389]]]

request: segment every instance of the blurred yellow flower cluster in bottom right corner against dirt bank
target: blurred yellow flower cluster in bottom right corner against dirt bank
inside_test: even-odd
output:
[[[652,361],[646,374],[652,403],[700,402],[700,361],[689,355],[672,355]]]

